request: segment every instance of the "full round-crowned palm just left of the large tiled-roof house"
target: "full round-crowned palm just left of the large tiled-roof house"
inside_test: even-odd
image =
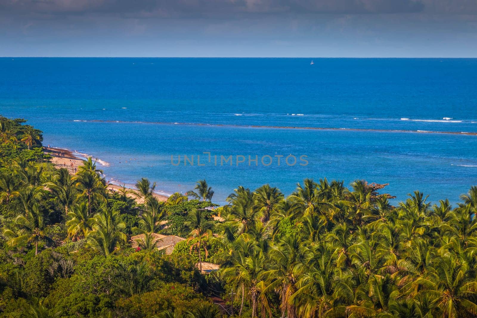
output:
[[[126,226],[119,220],[117,211],[102,209],[94,215],[92,227],[86,234],[87,242],[105,257],[126,243],[127,237],[122,232]]]

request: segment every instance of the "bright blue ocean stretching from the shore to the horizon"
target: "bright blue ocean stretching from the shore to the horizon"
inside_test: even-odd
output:
[[[389,183],[395,204],[414,190],[455,204],[477,184],[477,59],[313,61],[0,58],[0,114],[112,182],[206,179],[218,203],[307,177]]]

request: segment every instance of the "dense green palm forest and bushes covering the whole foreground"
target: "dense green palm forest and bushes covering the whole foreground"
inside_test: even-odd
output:
[[[23,123],[0,118],[2,317],[477,317],[477,186],[392,206],[384,185],[305,179],[210,211],[205,180],[163,203],[145,178],[108,191],[91,158],[58,170]],[[151,233],[187,240],[165,255]]]

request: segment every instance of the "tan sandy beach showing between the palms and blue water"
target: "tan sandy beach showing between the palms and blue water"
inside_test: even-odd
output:
[[[57,168],[66,168],[70,174],[75,174],[78,171],[78,167],[82,164],[83,160],[80,157],[75,156],[70,150],[68,149],[61,149],[61,148],[54,148],[54,147],[43,147],[45,154],[49,154],[52,156],[52,164],[54,164]],[[117,192],[121,190],[123,187],[121,185],[107,183],[107,189],[111,192]],[[135,189],[127,188],[130,191],[135,191]],[[143,203],[141,199],[138,199],[134,194],[130,193],[130,197],[135,198],[136,201],[141,204]],[[166,195],[159,195],[154,194],[157,200],[159,201],[167,201]]]

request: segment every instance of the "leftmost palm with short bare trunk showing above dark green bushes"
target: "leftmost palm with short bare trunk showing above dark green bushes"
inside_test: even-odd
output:
[[[38,203],[35,203],[26,215],[18,215],[11,228],[4,228],[3,235],[9,238],[10,246],[28,243],[35,245],[35,255],[38,255],[40,242],[52,242],[44,232],[43,211]]]

